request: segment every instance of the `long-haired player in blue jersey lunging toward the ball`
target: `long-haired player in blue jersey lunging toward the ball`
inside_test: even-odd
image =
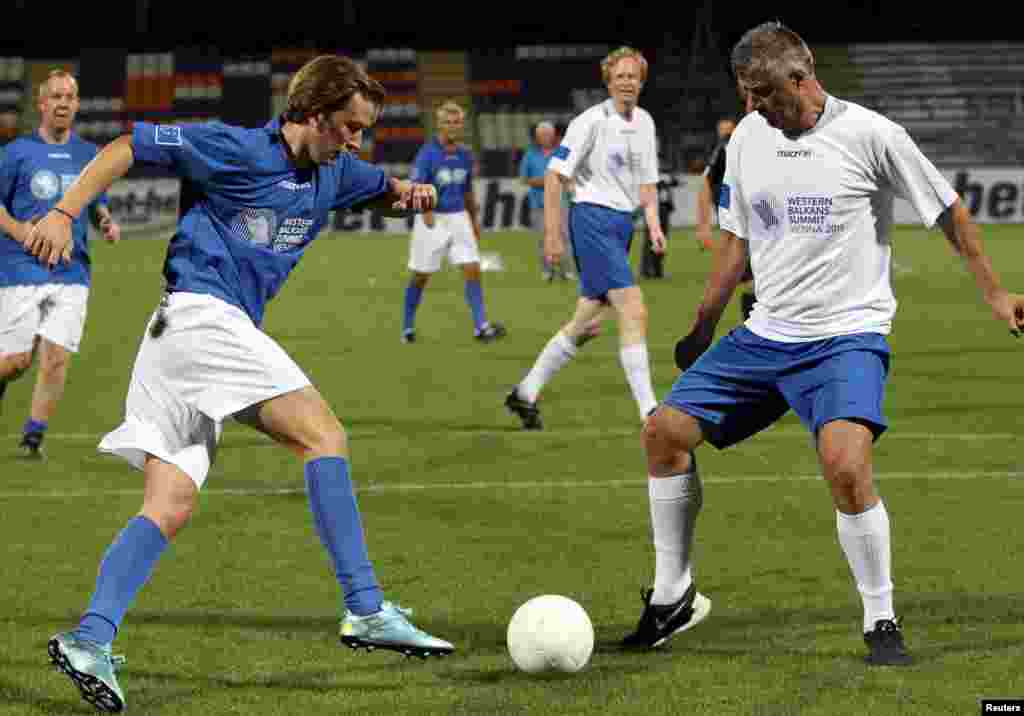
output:
[[[139,122],[109,144],[37,225],[27,248],[53,265],[70,251],[72,218],[134,162],[181,177],[180,217],[164,264],[167,294],[139,347],[124,423],[100,443],[144,471],[142,509],[103,557],[78,628],[49,642],[53,663],[86,701],[120,711],[113,641],[169,541],[196,508],[221,423],[233,417],[304,463],[313,522],[344,595],[343,643],[407,656],[454,647],[384,601],[349,478],[345,431],[294,361],[259,329],[332,210],[389,214],[434,208],[429,184],[387,177],[355,157],[384,89],[347,57],[296,73],[282,117],[258,129],[219,122]]]

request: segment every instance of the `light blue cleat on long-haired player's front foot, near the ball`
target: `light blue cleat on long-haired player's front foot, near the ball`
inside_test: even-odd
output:
[[[380,612],[366,617],[346,612],[341,620],[341,643],[353,649],[383,648],[420,659],[444,657],[455,651],[455,646],[447,641],[413,626],[409,621],[412,614],[412,609],[389,601],[381,604]]]

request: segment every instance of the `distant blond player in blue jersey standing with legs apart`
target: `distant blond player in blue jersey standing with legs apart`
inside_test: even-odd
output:
[[[437,138],[416,155],[414,181],[437,187],[437,206],[417,216],[410,241],[409,269],[413,278],[406,288],[401,341],[416,342],[416,310],[430,276],[441,261],[461,265],[466,280],[466,303],[473,318],[473,335],[483,343],[505,335],[505,327],[487,321],[480,285],[479,205],[473,192],[473,154],[459,143],[465,133],[466,113],[454,101],[437,108]]]

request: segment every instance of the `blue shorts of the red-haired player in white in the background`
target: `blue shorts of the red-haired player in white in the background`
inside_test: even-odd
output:
[[[633,214],[597,204],[573,204],[569,240],[584,298],[604,300],[611,289],[636,285],[630,268]]]

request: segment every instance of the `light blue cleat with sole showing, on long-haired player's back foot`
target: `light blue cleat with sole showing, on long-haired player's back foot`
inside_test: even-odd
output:
[[[110,644],[79,639],[69,631],[51,637],[47,651],[50,663],[75,682],[82,699],[105,713],[124,711],[125,694],[114,672],[125,659],[112,656]]]

